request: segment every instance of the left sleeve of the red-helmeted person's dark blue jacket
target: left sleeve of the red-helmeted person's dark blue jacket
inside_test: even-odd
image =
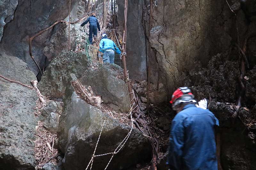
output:
[[[181,159],[184,146],[184,126],[183,120],[177,118],[172,120],[170,138],[168,164],[171,169],[180,170]]]

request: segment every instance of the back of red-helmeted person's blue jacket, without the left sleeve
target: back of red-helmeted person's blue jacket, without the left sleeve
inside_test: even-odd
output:
[[[188,104],[173,120],[184,127],[181,169],[217,170],[214,127],[219,123],[212,112]]]

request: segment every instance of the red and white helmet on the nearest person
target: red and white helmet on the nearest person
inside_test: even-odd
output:
[[[180,87],[174,91],[172,94],[172,100],[170,101],[173,110],[177,110],[176,106],[178,104],[187,102],[196,103],[196,100],[194,100],[194,95],[191,93],[190,89],[187,87]]]

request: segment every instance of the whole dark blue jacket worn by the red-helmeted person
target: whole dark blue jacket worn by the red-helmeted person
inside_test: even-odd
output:
[[[185,105],[172,120],[169,160],[171,170],[218,170],[214,127],[209,110]]]

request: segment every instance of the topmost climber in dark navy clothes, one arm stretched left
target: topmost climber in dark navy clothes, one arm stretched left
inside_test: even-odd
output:
[[[87,18],[86,21],[84,21],[81,26],[84,26],[89,22],[89,41],[90,44],[92,44],[92,34],[94,40],[97,39],[97,28],[100,31],[100,24],[98,22],[98,19],[95,17],[95,13],[92,13],[91,17]]]

